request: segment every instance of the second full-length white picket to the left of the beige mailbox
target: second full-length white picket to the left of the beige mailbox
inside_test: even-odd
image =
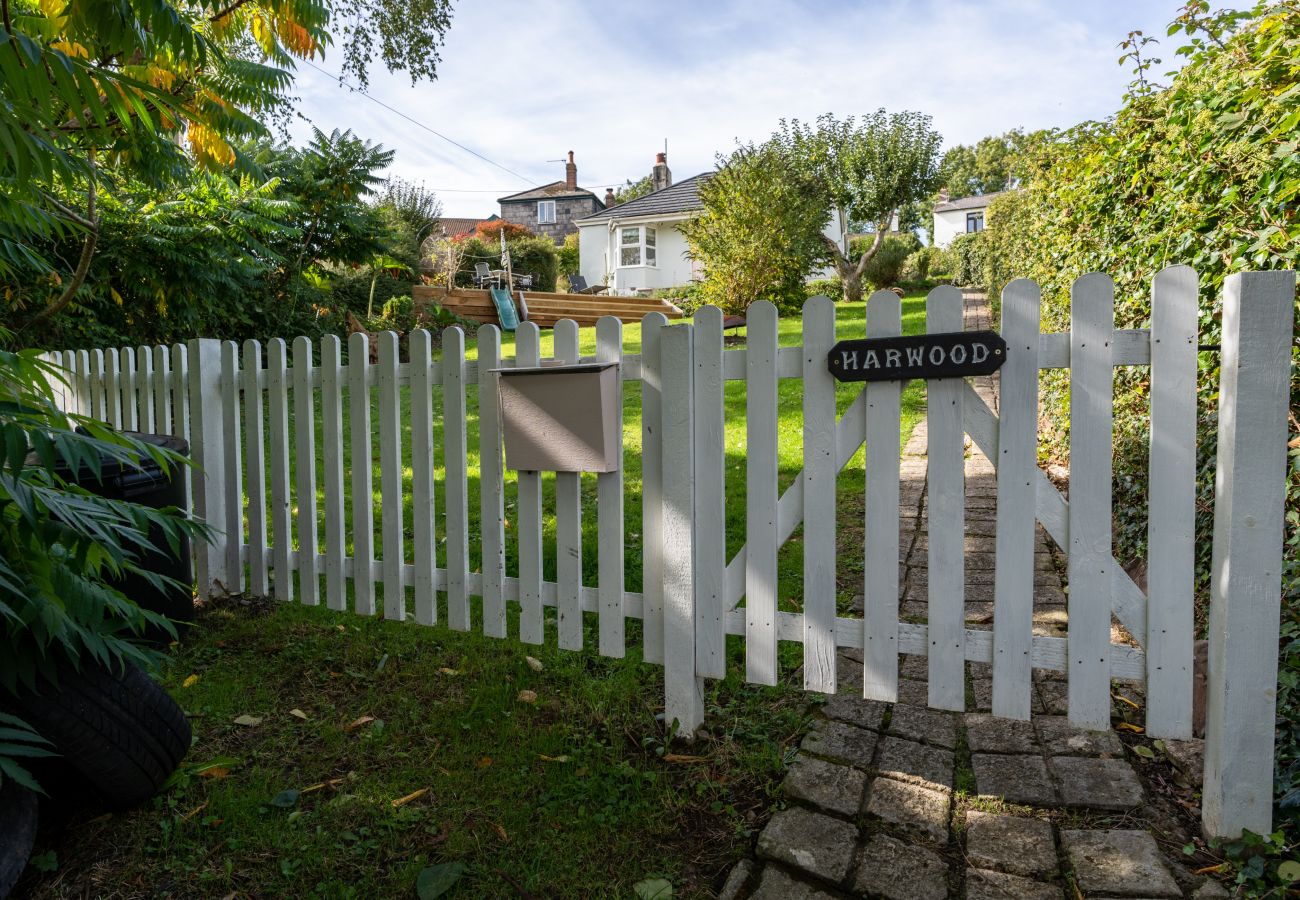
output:
[[[442,333],[442,438],[447,494],[447,624],[469,631],[469,483],[465,417],[465,333]]]

